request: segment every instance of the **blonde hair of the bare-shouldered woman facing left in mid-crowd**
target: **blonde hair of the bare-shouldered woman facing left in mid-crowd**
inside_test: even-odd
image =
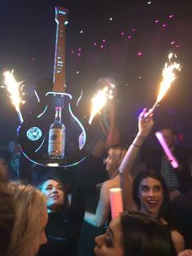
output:
[[[124,155],[127,152],[127,147],[121,146],[121,145],[115,145],[109,148],[111,150],[111,157],[112,157],[112,167],[111,167],[111,173],[112,177],[116,177],[117,174],[119,174],[119,168],[120,164],[124,159]]]

